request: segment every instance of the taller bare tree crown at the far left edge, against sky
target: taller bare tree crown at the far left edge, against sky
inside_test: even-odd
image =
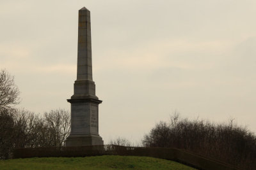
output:
[[[0,71],[0,110],[12,108],[13,105],[19,104],[19,89],[14,83],[13,76],[6,70]]]

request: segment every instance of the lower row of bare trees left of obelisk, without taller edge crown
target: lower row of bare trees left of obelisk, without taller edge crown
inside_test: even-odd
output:
[[[70,113],[51,110],[36,115],[26,110],[0,111],[0,157],[12,157],[13,148],[64,146],[70,133]]]

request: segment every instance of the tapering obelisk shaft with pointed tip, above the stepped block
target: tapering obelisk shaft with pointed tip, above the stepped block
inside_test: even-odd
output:
[[[90,11],[85,7],[79,10],[77,80],[93,80],[91,20]]]

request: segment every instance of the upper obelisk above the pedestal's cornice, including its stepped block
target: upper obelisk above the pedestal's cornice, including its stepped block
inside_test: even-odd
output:
[[[90,11],[83,7],[79,10],[77,45],[77,80],[74,83],[74,95],[71,99],[93,98],[95,83],[92,79],[92,38]]]

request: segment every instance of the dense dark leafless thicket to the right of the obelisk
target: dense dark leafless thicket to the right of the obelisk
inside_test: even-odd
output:
[[[234,124],[233,120],[227,124],[214,124],[180,118],[175,114],[170,122],[156,124],[142,142],[145,147],[188,150],[241,169],[256,167],[256,136],[246,127]]]

